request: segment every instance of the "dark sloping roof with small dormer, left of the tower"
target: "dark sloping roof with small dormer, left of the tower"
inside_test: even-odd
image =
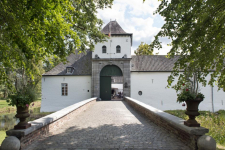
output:
[[[87,52],[87,54],[70,54],[67,57],[67,63],[60,63],[55,66],[52,70],[43,74],[44,76],[48,75],[91,75],[92,72],[92,52]],[[74,67],[72,74],[66,74],[66,67]]]

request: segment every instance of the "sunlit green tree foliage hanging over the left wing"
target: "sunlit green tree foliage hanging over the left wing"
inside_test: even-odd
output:
[[[96,9],[111,7],[112,1],[1,0],[0,84],[9,84],[8,69],[23,68],[33,77],[35,64],[50,56],[65,61],[75,49],[93,50],[106,38]]]

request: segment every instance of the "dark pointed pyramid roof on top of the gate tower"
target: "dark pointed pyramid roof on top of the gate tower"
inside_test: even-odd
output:
[[[102,33],[109,34],[111,28],[111,34],[129,34],[126,33],[121,26],[117,23],[117,21],[110,21],[103,29]]]

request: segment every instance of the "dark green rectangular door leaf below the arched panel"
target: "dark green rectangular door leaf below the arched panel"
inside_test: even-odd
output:
[[[111,77],[100,77],[100,98],[102,100],[111,100]]]

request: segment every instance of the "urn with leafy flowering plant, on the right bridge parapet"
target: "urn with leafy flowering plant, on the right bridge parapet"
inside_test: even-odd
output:
[[[184,121],[184,125],[188,127],[200,127],[195,117],[200,115],[198,106],[205,97],[199,92],[198,83],[202,83],[202,85],[205,86],[205,74],[202,73],[201,68],[190,66],[190,64],[185,65],[184,73],[179,73],[179,70],[175,70],[172,72],[172,75],[168,77],[168,87],[172,85],[175,79],[174,76],[179,76],[177,84],[172,86],[172,88],[178,92],[177,102],[183,103],[182,106],[185,106],[184,102],[187,105],[185,114],[188,115],[189,119]]]

